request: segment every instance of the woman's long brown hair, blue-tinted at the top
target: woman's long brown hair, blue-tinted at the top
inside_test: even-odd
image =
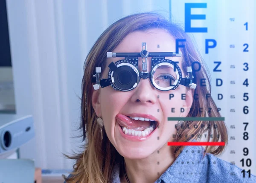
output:
[[[111,183],[113,167],[116,163],[121,162],[123,157],[109,141],[104,128],[102,129],[103,140],[101,140],[97,116],[92,106],[93,84],[96,83],[95,78],[93,80],[93,74],[95,74],[96,67],[101,67],[104,70],[106,67],[107,52],[112,52],[129,33],[133,31],[146,31],[151,28],[164,29],[175,39],[186,39],[185,47],[180,48],[183,53],[181,69],[186,71],[186,67],[191,66],[193,62],[200,62],[201,64],[199,71],[193,71],[193,83],[197,84],[194,94],[198,94],[198,99],[193,99],[192,107],[187,117],[206,117],[205,113],[200,112],[200,107],[203,108],[203,111],[212,108],[212,112],[208,113],[209,117],[221,117],[212,97],[210,96],[208,101],[205,97],[211,91],[209,69],[183,28],[154,12],[138,13],[124,17],[110,25],[101,34],[85,59],[84,76],[81,86],[80,129],[82,130],[81,136],[83,137],[83,141],[86,140],[87,143],[84,146],[84,152],[75,154],[74,156],[65,155],[67,158],[76,160],[74,171],[72,172],[73,176],[66,179],[67,183]],[[201,79],[205,79],[208,88],[200,85]],[[213,129],[212,126],[210,129],[183,128],[179,132],[180,136],[177,137],[177,141],[192,141],[197,138],[198,134],[203,134],[204,132],[208,132],[209,141],[210,134],[213,130],[214,136],[212,141],[220,140],[227,143],[227,128],[224,121],[186,121],[186,123],[189,127],[195,124],[198,126],[204,124],[206,127],[208,124],[212,126],[216,124],[218,128]],[[182,134],[187,134],[187,136]],[[192,134],[194,137],[191,137]],[[220,139],[216,137],[217,134],[220,135]],[[172,146],[172,148],[174,148],[175,157],[177,157],[184,146]],[[223,150],[224,146],[218,146],[216,149],[209,148],[209,146],[206,147],[206,152],[212,153],[213,155],[221,154]],[[204,152],[204,155],[206,152]]]

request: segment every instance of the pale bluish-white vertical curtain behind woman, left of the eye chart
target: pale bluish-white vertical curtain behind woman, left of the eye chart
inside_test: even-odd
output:
[[[169,0],[6,0],[17,114],[32,114],[35,138],[20,149],[42,169],[71,169],[79,152],[84,59],[114,21],[141,11],[169,17]]]

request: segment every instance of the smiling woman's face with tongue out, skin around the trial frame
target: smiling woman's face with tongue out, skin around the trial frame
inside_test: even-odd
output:
[[[175,52],[175,39],[162,29],[132,32],[112,52],[140,52],[142,42],[146,42],[148,52]],[[124,58],[108,58],[107,66],[121,59]],[[142,58],[138,59],[139,72],[141,72]],[[181,57],[166,57],[166,59],[179,62],[178,65],[181,68]],[[151,57],[147,59],[147,68],[148,72],[151,71]],[[106,67],[101,76],[108,78],[108,71],[109,68]],[[182,77],[185,77],[183,71]],[[128,92],[114,90],[111,86],[100,88],[100,90],[100,92],[93,91],[94,110],[98,116],[99,114],[102,116],[105,131],[113,146],[119,154],[129,159],[146,158],[161,149],[168,141],[173,141],[172,135],[177,132],[175,129],[177,121],[168,121],[168,117],[186,117],[189,112],[186,108],[190,108],[192,104],[191,91],[186,93],[185,86],[179,85],[175,90],[160,91],[151,85],[149,78],[141,78],[137,87]],[[169,100],[170,94],[174,95],[171,100]],[[182,100],[182,94],[187,94],[186,100]],[[185,111],[180,113],[182,107]],[[159,127],[145,137],[125,135],[119,125],[120,118],[134,127],[137,127],[137,124],[143,124],[143,127],[146,123],[150,124],[150,121],[130,120],[126,116],[153,118],[158,121]]]

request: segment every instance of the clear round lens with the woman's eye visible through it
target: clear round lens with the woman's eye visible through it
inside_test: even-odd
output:
[[[177,83],[177,69],[174,71],[172,64],[160,65],[155,69],[152,80],[158,88],[174,87]]]

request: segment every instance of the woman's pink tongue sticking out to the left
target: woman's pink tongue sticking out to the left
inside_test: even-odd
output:
[[[125,115],[117,114],[116,121],[121,127],[128,127],[131,130],[140,130],[143,131],[145,128],[150,126],[151,121],[140,121],[131,119]]]

